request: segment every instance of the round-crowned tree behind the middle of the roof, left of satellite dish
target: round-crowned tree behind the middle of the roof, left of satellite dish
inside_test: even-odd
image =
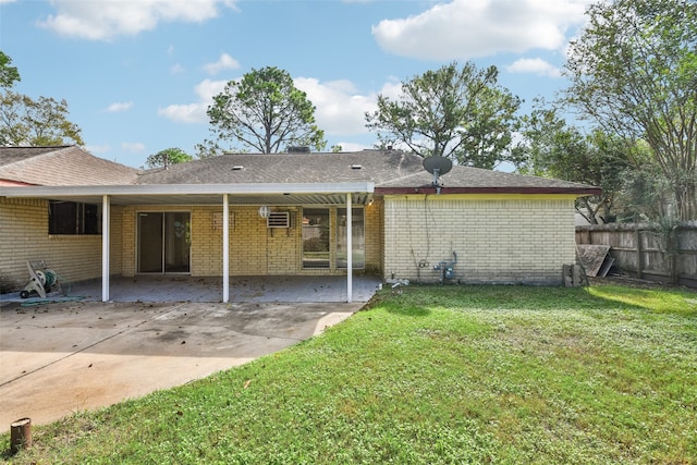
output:
[[[325,133],[315,124],[315,107],[297,89],[291,75],[277,68],[252,70],[241,81],[230,81],[213,97],[207,114],[216,140],[199,145],[204,156],[217,152],[220,144],[235,140],[262,154],[290,146],[309,146],[320,151]]]

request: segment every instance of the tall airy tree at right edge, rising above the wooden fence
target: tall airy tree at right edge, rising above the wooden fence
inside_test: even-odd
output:
[[[565,100],[628,147],[646,140],[676,217],[696,219],[697,3],[614,0],[587,13],[570,46]]]

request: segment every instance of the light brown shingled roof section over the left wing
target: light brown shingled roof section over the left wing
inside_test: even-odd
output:
[[[126,185],[138,171],[77,146],[0,147],[0,181],[38,186]]]

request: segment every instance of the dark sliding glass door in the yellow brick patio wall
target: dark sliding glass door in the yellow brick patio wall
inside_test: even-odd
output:
[[[191,213],[148,211],[138,213],[138,272],[191,271]]]

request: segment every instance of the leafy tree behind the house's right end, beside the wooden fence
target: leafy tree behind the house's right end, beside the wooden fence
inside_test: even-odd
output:
[[[523,140],[513,150],[518,171],[600,187],[599,196],[577,199],[576,210],[591,224],[613,222],[631,166],[624,145],[600,130],[584,134],[541,100],[522,120]]]

